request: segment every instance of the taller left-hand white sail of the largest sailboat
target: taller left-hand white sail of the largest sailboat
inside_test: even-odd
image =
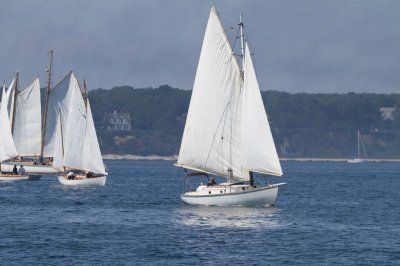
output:
[[[212,7],[200,54],[177,165],[242,178],[238,99],[240,68]]]

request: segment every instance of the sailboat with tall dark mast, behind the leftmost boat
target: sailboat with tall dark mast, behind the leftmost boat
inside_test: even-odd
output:
[[[19,157],[3,163],[3,168],[11,171],[14,165],[23,165],[30,174],[54,174],[58,170],[51,166],[51,157],[43,157],[45,121],[47,120],[48,98],[51,91],[51,69],[53,50],[50,51],[50,66],[48,70],[48,84],[45,95],[45,110],[42,119],[40,84],[36,78],[23,91],[18,91],[18,72],[16,86],[13,89],[13,98],[10,107],[13,139]],[[43,127],[42,127],[43,121]]]

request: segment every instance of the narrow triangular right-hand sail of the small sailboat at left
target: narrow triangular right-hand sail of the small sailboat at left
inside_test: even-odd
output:
[[[89,99],[86,101],[86,132],[83,147],[83,169],[93,173],[106,174],[101,157],[99,142],[90,108]]]

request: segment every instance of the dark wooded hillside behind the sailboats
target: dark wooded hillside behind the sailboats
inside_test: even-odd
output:
[[[191,91],[123,86],[89,93],[103,153],[175,155]],[[370,158],[400,158],[400,114],[383,119],[381,107],[398,94],[290,94],[264,91],[272,133],[282,157],[349,158],[360,130]],[[400,105],[398,105],[400,106]],[[105,114],[130,116],[130,130],[109,130]]]

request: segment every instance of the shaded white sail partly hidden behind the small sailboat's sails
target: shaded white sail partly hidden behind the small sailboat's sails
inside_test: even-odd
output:
[[[43,156],[52,157],[54,138],[56,136],[56,125],[58,114],[61,112],[61,121],[63,126],[63,134],[65,136],[65,128],[68,121],[69,107],[73,92],[79,89],[78,82],[73,72],[70,72],[62,81],[60,81],[50,92],[48,100],[48,112],[46,118],[46,128],[44,132],[44,148]]]

